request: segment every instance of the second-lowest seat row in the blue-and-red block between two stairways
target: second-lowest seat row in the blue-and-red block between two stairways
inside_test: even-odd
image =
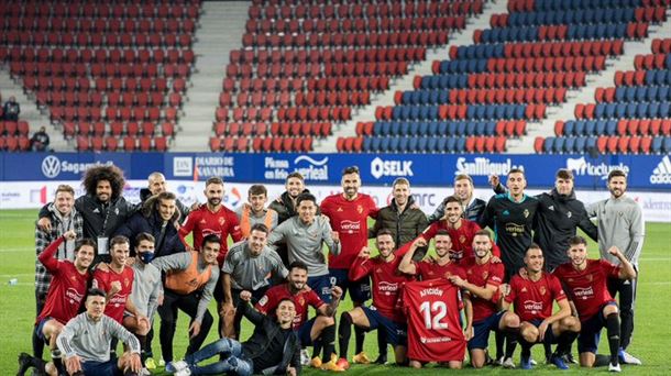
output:
[[[517,121],[376,121],[356,124],[358,135],[398,136],[521,136],[527,122]]]

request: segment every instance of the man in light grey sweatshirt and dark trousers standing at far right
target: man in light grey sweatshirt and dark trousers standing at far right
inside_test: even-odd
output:
[[[598,220],[598,251],[601,258],[622,265],[618,257],[609,253],[610,247],[622,250],[625,258],[634,265],[638,273],[638,259],[644,247],[646,229],[640,206],[627,191],[627,174],[615,169],[608,174],[608,190],[610,197],[595,202],[587,208],[587,214]],[[626,352],[634,333],[634,308],[636,307],[636,279],[609,279],[608,291],[615,298],[619,297],[622,318],[619,360],[625,364],[641,362]]]

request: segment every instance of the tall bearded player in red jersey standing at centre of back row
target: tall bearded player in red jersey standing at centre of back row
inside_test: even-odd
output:
[[[369,217],[377,218],[377,207],[369,195],[360,193],[361,174],[359,167],[348,167],[342,172],[342,193],[331,195],[321,201],[321,212],[331,220],[331,228],[340,235],[342,250],[340,255],[329,256],[329,269],[336,285],[342,288],[343,294],[350,290],[354,307],[362,306],[371,297],[369,278],[352,281],[348,278],[349,268],[356,259],[356,255],[369,245]],[[370,363],[363,352],[365,332],[356,328],[356,355],[354,363]]]

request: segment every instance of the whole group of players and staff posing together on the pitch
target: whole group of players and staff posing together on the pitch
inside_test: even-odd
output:
[[[454,195],[427,218],[405,178],[395,180],[391,204],[378,209],[360,192],[356,167],[343,170],[342,192],[321,204],[293,173],[267,208],[265,187],[254,185],[249,202],[233,212],[222,204],[220,178],[206,181],[206,203],[188,208],[154,173],[142,203],[133,206],[121,196],[121,170],[92,167],[86,195],[75,200],[72,187],[59,186],[41,210],[33,355],[20,355],[19,375],[29,367],[50,375],[148,375],[155,312],[166,371],[180,376],[295,375],[307,364],[343,372],[352,328],[354,363],[372,362],[364,335],[377,329],[380,364],[392,344],[396,363],[413,367],[438,362],[460,368],[468,347],[475,368],[514,368],[519,343],[521,368],[532,368],[530,349],[543,343],[547,362],[565,369],[576,338],[581,366],[640,364],[625,352],[644,240],[641,209],[625,196],[626,175],[610,172],[610,197],[587,209],[575,199],[566,169],[557,173],[550,192],[536,197],[525,193],[520,169],[507,174],[507,189],[498,177],[491,183],[497,195],[485,202],[474,197],[471,177],[458,175]],[[370,230],[369,218],[376,219]],[[587,258],[578,228],[598,242],[601,259]],[[229,236],[235,242],[230,250]],[[369,237],[377,256],[371,257]],[[435,255],[427,255],[431,240]],[[348,291],[353,309],[340,314],[337,330]],[[213,324],[212,297],[221,340],[199,350]],[[191,319],[183,361],[173,356],[178,310]],[[241,344],[243,317],[255,329]],[[596,355],[604,327],[609,356]],[[124,344],[120,356],[117,340]],[[53,363],[42,361],[44,343]],[[314,346],[311,358],[307,346]],[[219,362],[199,365],[217,354]]]

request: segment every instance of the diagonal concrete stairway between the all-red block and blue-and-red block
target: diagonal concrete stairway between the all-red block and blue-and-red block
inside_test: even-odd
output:
[[[507,1],[486,1],[483,3],[483,12],[466,19],[466,27],[450,34],[450,43],[447,45],[427,49],[427,58],[424,62],[409,66],[409,73],[396,80],[393,80],[389,90],[371,97],[371,104],[353,110],[352,119],[345,123],[336,125],[333,134],[315,144],[315,153],[337,153],[336,140],[338,137],[356,136],[356,123],[375,119],[375,109],[380,106],[394,106],[394,93],[397,90],[413,90],[413,81],[416,76],[431,75],[431,64],[433,60],[449,58],[451,45],[469,45],[473,43],[473,32],[477,29],[485,29],[490,25],[492,14],[506,12]]]

